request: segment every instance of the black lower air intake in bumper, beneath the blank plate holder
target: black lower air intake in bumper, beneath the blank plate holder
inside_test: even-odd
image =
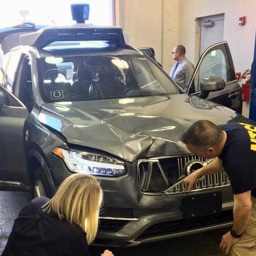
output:
[[[142,234],[140,234],[138,238],[174,234],[182,231],[214,226],[215,224],[225,224],[228,222],[233,222],[233,210],[193,219],[179,219],[175,221],[154,224],[146,229]]]

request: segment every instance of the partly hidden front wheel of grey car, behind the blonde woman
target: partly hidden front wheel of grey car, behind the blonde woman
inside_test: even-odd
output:
[[[38,167],[34,173],[32,195],[34,198],[42,196],[48,198],[52,197],[49,182],[40,167]]]

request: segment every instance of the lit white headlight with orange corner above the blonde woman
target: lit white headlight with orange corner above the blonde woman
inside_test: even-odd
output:
[[[126,173],[124,163],[103,155],[54,148],[52,151],[64,160],[69,170],[91,175],[119,177]]]

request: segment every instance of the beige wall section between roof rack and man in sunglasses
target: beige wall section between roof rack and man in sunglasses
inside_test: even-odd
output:
[[[153,47],[158,62],[170,72],[171,52],[178,44],[179,0],[116,0],[116,8],[116,25],[123,26],[128,44]]]

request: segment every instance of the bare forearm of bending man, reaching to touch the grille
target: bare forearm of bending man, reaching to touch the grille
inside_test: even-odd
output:
[[[223,171],[222,163],[219,161],[219,158],[215,158],[208,165],[205,165],[204,167],[188,175],[184,180],[184,185],[187,191],[190,192],[194,184],[197,182],[197,179],[199,176],[218,173],[222,171]]]

